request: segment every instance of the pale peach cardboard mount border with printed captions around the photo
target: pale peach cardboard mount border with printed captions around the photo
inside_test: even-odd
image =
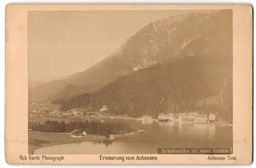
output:
[[[99,155],[63,155],[65,160],[21,160],[28,156],[27,11],[31,10],[233,10],[233,154],[237,160],[207,155],[143,155],[158,160],[102,161]],[[250,5],[35,5],[6,7],[5,155],[10,164],[249,164],[252,161],[252,7]],[[243,82],[241,82],[243,81]],[[243,111],[243,114],[241,114]],[[13,117],[15,116],[15,117]],[[50,156],[50,155],[47,155]],[[136,156],[126,155],[125,156]],[[217,155],[219,156],[219,155]],[[223,156],[223,155],[222,155]],[[170,160],[171,158],[171,160]]]

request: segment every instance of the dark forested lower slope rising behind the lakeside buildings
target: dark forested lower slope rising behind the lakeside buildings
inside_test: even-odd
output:
[[[219,54],[218,52],[216,53]],[[231,59],[231,58],[230,58]],[[81,94],[62,103],[61,110],[109,105],[113,115],[142,116],[170,112],[177,105],[181,112],[201,109],[197,102],[223,93],[226,107],[232,107],[232,64],[225,56],[176,58],[144,68],[104,86],[97,92]],[[232,60],[230,60],[232,62]],[[221,97],[219,97],[221,98]],[[221,99],[216,104],[222,115]],[[217,109],[218,110],[218,109]],[[223,110],[230,117],[232,109]],[[208,111],[209,112],[209,111]]]

